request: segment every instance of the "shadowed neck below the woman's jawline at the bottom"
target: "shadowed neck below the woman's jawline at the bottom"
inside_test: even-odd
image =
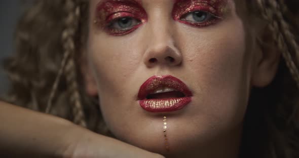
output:
[[[206,158],[238,158],[242,138],[242,128],[239,126],[213,140],[204,142],[180,153],[165,155],[167,158],[176,157],[206,157]]]

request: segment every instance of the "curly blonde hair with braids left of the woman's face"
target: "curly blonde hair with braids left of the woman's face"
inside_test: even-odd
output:
[[[3,62],[12,85],[2,100],[106,133],[99,128],[104,123],[98,101],[85,94],[76,64],[87,38],[88,1],[30,6],[17,25],[16,53]]]

